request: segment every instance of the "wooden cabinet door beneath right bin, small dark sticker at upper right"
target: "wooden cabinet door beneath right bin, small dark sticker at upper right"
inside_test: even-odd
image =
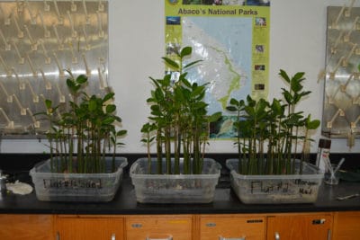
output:
[[[327,240],[331,237],[332,215],[278,215],[267,218],[267,238]]]

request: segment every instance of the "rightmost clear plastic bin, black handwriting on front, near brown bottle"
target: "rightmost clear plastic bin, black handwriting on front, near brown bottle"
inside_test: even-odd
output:
[[[317,200],[324,173],[315,165],[303,163],[302,174],[243,175],[238,159],[228,159],[232,189],[243,203],[311,203]],[[300,167],[300,161],[296,166]]]

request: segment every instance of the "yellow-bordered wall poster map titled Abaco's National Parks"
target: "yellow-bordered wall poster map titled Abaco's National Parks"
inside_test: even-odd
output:
[[[190,46],[189,61],[203,60],[188,78],[208,83],[208,111],[223,113],[210,137],[233,138],[229,100],[267,97],[270,1],[165,0],[165,13],[166,57],[175,58],[175,49]]]

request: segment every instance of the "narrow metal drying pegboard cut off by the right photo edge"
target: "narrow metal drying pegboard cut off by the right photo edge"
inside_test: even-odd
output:
[[[328,7],[326,54],[322,134],[353,147],[360,133],[359,7]]]

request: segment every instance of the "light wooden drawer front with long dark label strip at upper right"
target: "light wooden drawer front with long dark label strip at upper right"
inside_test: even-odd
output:
[[[200,218],[200,239],[265,239],[265,217],[214,215]]]

